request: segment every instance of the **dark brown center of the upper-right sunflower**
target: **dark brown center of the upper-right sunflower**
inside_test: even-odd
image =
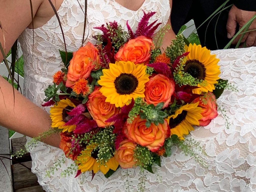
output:
[[[184,67],[184,72],[199,80],[205,79],[205,66],[198,60],[188,60]]]

